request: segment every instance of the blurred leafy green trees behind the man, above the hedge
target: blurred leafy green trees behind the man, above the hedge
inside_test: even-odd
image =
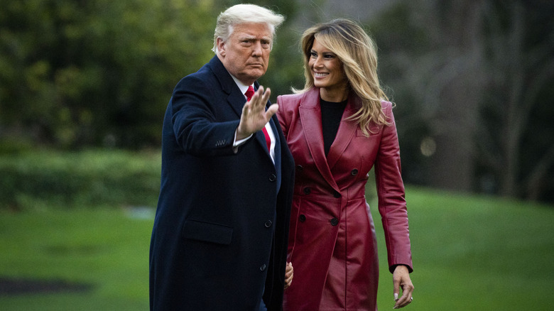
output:
[[[234,2],[5,1],[0,141],[158,147],[173,87],[212,58],[217,15]],[[259,2],[287,17],[295,11],[292,0]],[[290,75],[301,77],[296,50],[285,44],[296,41],[293,37],[278,32],[270,65],[274,75],[262,80],[273,97],[288,91]]]

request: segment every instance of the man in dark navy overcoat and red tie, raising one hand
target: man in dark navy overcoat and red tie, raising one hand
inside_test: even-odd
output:
[[[227,9],[217,18],[216,55],[173,90],[151,310],[281,310],[294,163],[277,105],[266,109],[270,89],[256,80],[283,19],[260,6]],[[250,86],[257,91],[247,102]]]

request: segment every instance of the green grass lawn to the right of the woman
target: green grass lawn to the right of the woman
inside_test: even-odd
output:
[[[554,310],[554,208],[408,187],[415,286],[406,310]],[[379,308],[393,306],[380,218]]]

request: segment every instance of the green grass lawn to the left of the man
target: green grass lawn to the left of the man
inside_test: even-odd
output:
[[[85,293],[0,296],[0,309],[148,310],[152,223],[127,209],[0,211],[0,275],[93,286]]]

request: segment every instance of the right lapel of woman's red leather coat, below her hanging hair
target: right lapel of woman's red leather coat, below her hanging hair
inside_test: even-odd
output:
[[[327,154],[327,163],[329,168],[333,168],[339,160],[344,150],[352,141],[352,137],[356,133],[358,124],[356,121],[347,120],[350,116],[356,113],[361,105],[358,97],[349,97],[347,107],[344,108],[344,113],[342,114],[342,119],[340,120],[339,130],[337,131],[337,136],[335,141],[333,141],[331,148],[329,149],[329,154]]]

